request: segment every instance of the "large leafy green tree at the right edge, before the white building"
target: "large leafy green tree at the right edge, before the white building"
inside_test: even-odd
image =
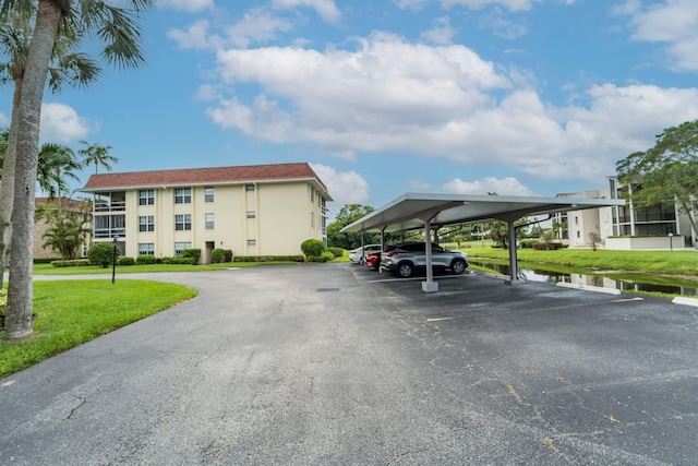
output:
[[[653,147],[618,160],[616,170],[636,208],[676,204],[698,230],[698,120],[664,130]]]

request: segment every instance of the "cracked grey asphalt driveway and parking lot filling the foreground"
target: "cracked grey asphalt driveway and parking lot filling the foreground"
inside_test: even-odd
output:
[[[0,380],[0,464],[698,457],[698,308],[353,264],[137,278],[201,292]]]

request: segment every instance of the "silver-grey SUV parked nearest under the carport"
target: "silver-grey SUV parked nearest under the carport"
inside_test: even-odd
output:
[[[436,271],[450,270],[461,274],[470,265],[468,254],[461,251],[449,251],[438,244],[432,247],[432,265]],[[426,270],[425,243],[408,241],[386,247],[381,254],[381,268],[389,271],[401,278],[411,276],[416,271]]]

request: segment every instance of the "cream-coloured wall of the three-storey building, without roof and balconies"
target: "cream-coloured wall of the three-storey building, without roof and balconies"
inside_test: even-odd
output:
[[[214,248],[234,255],[296,255],[304,240],[324,239],[322,196],[310,182],[214,186],[213,202],[206,202],[205,188],[191,187],[191,203],[184,204],[174,202],[174,188],[153,189],[154,205],[139,205],[139,189],[127,191],[123,254],[135,258],[139,244],[153,244],[155,256],[173,256],[176,243],[189,243],[206,263]],[[206,214],[213,215],[213,228],[206,227]],[[176,230],[176,215],[191,215],[191,229]],[[140,231],[143,216],[154,217],[154,231]]]

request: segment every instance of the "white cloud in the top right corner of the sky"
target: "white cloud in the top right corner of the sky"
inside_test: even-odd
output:
[[[698,70],[698,2],[667,0],[642,9],[630,0],[614,12],[631,15],[634,40],[665,44],[672,68]]]

